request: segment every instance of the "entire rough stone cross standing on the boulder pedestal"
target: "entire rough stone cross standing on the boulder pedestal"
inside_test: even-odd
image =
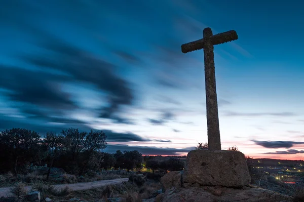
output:
[[[238,34],[235,30],[212,35],[212,30],[211,28],[208,27],[203,30],[202,39],[181,45],[181,52],[183,53],[204,49],[207,130],[208,130],[209,150],[221,150],[217,96],[216,96],[216,86],[215,86],[213,46],[217,44],[231,42],[236,39],[238,39]]]

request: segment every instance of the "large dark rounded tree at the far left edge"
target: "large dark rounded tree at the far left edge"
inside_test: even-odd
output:
[[[14,159],[14,171],[17,174],[18,163],[24,165],[39,153],[40,135],[34,131],[20,128],[6,129],[0,133],[0,142]]]

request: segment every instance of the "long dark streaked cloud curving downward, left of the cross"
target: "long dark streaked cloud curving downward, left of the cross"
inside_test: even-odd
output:
[[[22,59],[42,69],[54,69],[63,71],[74,79],[74,82],[84,82],[95,85],[99,90],[107,93],[108,107],[100,110],[101,118],[113,118],[117,123],[124,122],[117,118],[116,112],[120,111],[122,105],[132,105],[134,93],[130,84],[115,74],[116,66],[95,58],[91,53],[51,38],[50,43],[41,48],[51,52],[45,56],[22,56]]]

